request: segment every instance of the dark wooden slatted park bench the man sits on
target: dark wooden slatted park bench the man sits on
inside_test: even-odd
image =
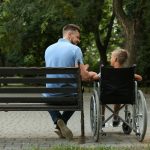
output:
[[[73,78],[46,78],[46,74],[72,74]],[[46,88],[46,83],[76,83],[77,87]],[[0,67],[0,84],[0,111],[81,111],[81,137],[84,137],[79,68]],[[65,93],[70,96],[44,97],[42,93]]]

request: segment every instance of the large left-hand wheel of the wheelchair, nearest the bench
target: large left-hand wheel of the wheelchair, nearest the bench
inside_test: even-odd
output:
[[[98,92],[94,90],[91,96],[90,102],[90,121],[91,130],[94,140],[97,142],[99,139],[99,127],[100,127],[100,110],[99,110],[99,97]]]

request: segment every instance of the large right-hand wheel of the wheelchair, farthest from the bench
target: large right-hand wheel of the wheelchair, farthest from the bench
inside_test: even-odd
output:
[[[141,90],[138,90],[137,92],[134,125],[137,139],[142,142],[147,130],[147,106],[145,97]]]

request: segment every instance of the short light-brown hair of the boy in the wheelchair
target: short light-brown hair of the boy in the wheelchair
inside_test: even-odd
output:
[[[129,53],[125,49],[118,48],[112,52],[113,55],[117,58],[117,61],[120,65],[124,65],[129,57]]]

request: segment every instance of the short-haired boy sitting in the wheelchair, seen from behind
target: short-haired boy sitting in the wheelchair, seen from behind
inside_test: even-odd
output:
[[[127,50],[124,49],[116,49],[112,52],[111,54],[111,59],[110,59],[110,65],[113,68],[124,68],[126,67],[126,63],[128,60],[129,54],[127,52]],[[92,80],[99,80],[101,77],[101,73],[96,74],[95,72],[90,72],[90,76],[92,78]],[[142,76],[138,75],[138,74],[134,74],[134,78],[136,81],[141,81],[142,80]],[[118,118],[118,110],[120,109],[120,104],[114,104],[114,113],[117,114],[116,116],[114,115],[113,117],[113,122],[112,125],[114,127],[118,126],[120,123],[120,119]],[[103,116],[105,116],[105,106],[103,106],[102,108],[102,113]],[[103,118],[104,120],[104,118]],[[103,125],[105,126],[105,125]]]

